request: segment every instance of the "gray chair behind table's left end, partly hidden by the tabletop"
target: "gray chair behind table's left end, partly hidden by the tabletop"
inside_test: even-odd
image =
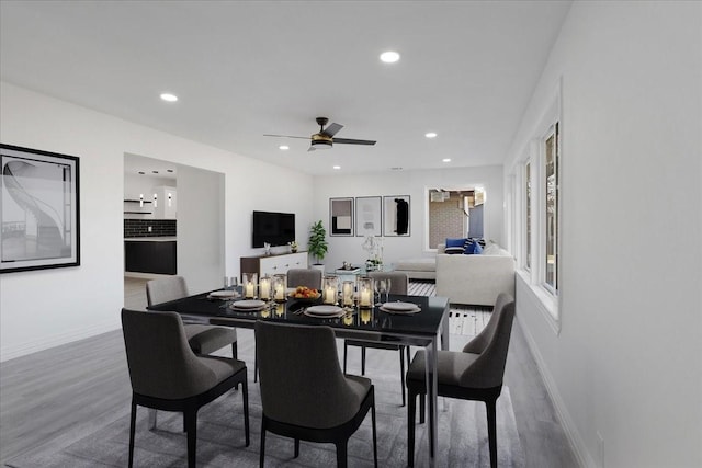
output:
[[[182,276],[169,276],[146,283],[146,301],[168,303],[188,296],[188,286]],[[214,327],[202,323],[185,323],[185,336],[195,354],[212,354],[231,345],[231,357],[237,358],[237,330],[228,327]]]

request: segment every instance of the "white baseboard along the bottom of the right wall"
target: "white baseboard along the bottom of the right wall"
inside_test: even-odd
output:
[[[554,408],[556,410],[556,418],[558,419],[558,422],[563,426],[566,433],[566,437],[570,443],[573,453],[575,454],[576,460],[578,461],[578,467],[596,468],[597,465],[595,464],[595,460],[590,456],[590,453],[588,452],[585,443],[582,442],[582,437],[580,437],[580,433],[577,430],[575,423],[573,422],[573,418],[570,418],[570,413],[568,412],[566,404],[563,401],[563,398],[561,398],[561,392],[558,391],[558,387],[556,386],[556,383],[553,379],[553,376],[548,372],[546,363],[543,356],[541,355],[541,352],[539,351],[539,346],[536,346],[536,342],[534,341],[534,338],[530,333],[523,320],[519,316],[516,316],[516,317],[517,317],[517,321],[519,322],[522,329],[522,332],[524,333],[524,339],[526,340],[526,346],[529,347],[529,351],[531,352],[532,356],[534,357],[534,361],[536,362],[536,368],[539,369],[539,374],[541,375],[541,378],[544,381],[544,386],[546,387],[546,392],[548,393],[548,397],[551,398],[551,401],[554,404]]]

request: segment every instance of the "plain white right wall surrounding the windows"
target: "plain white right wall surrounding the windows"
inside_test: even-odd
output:
[[[701,19],[574,2],[506,164],[562,78],[561,333],[517,316],[584,466],[702,466]]]

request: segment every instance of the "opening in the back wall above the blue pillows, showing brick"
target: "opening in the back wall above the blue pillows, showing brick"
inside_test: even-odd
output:
[[[427,249],[437,249],[446,238],[483,238],[485,191],[429,189],[429,232]]]

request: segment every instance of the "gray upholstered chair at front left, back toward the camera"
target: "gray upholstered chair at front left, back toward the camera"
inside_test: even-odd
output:
[[[134,461],[137,406],[183,413],[188,433],[188,466],[195,466],[197,410],[241,385],[246,445],[249,445],[249,392],[246,364],[196,356],[176,312],[122,309],[122,332],[132,380],[129,467]]]

